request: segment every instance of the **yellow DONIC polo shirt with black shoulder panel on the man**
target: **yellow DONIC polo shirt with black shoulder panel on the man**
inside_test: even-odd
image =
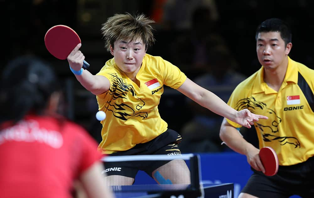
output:
[[[304,162],[314,155],[314,70],[290,57],[288,62],[278,92],[263,81],[262,66],[236,87],[228,102],[236,110],[247,108],[268,116],[254,125],[259,147],[272,147],[283,166]]]

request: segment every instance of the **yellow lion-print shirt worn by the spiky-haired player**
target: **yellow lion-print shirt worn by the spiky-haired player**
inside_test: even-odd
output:
[[[99,110],[106,113],[101,121],[102,141],[99,149],[111,154],[148,142],[167,130],[158,112],[163,85],[179,88],[187,76],[161,57],[146,54],[136,75],[140,86],[120,72],[114,58],[96,75],[110,81],[109,91],[96,96]]]

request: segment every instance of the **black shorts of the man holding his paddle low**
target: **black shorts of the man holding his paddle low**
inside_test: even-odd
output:
[[[288,198],[292,195],[314,197],[314,157],[291,166],[279,166],[278,173],[266,176],[253,169],[241,192],[260,198]]]

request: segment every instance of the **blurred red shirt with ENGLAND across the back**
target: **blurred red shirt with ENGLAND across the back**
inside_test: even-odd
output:
[[[1,197],[71,197],[72,182],[102,157],[79,125],[27,116],[0,126]]]

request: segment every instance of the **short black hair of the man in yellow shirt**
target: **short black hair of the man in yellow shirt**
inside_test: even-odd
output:
[[[285,45],[291,42],[292,33],[290,25],[285,21],[277,18],[271,18],[263,21],[256,30],[255,39],[260,32],[279,32],[281,38],[284,40]]]

